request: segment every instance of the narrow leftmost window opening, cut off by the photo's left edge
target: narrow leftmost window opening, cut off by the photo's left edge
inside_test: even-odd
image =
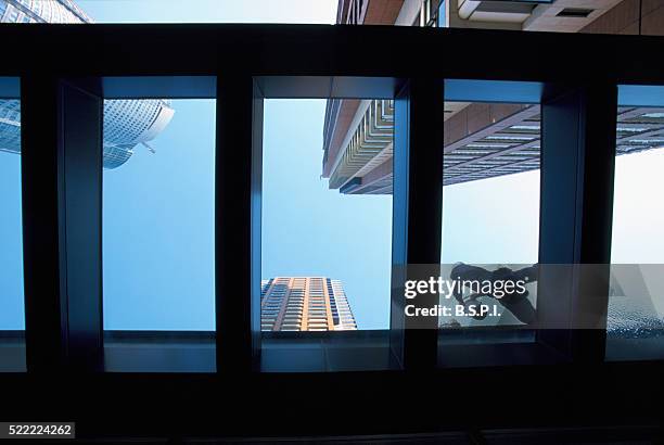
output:
[[[0,99],[0,371],[25,370],[21,102]]]

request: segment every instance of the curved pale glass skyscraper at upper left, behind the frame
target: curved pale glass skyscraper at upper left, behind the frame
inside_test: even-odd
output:
[[[92,23],[73,0],[0,0],[0,23]],[[170,122],[163,99],[104,101],[104,168],[116,168]],[[0,151],[21,153],[21,102],[0,99]]]

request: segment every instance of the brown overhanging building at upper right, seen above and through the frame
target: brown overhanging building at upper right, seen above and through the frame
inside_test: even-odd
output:
[[[646,4],[646,3],[644,3]],[[664,1],[340,0],[336,22],[560,33],[664,34]],[[500,50],[500,49],[497,49]],[[472,49],[469,49],[472,51]],[[518,63],[518,51],[505,49]],[[440,58],[445,56],[442,50]],[[391,194],[390,101],[331,99],[322,177],[349,194]],[[540,107],[534,103],[445,103],[444,185],[539,168]],[[664,109],[617,110],[618,155],[664,145]]]

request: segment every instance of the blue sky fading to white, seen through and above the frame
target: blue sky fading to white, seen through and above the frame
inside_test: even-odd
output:
[[[81,0],[97,22],[333,23],[336,0]],[[195,7],[193,8],[192,4]],[[320,179],[323,100],[265,104],[263,277],[344,283],[361,329],[386,328],[391,196]],[[107,329],[214,329],[214,101],[174,101],[152,145],[104,173]],[[23,329],[20,156],[0,152],[0,329]],[[614,263],[663,263],[664,150],[616,161]],[[534,263],[538,171],[447,187],[443,262]],[[232,215],[229,215],[232,217]]]

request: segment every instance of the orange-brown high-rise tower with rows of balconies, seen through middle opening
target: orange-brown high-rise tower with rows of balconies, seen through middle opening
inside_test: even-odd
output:
[[[357,330],[340,280],[277,277],[260,283],[260,330]]]

